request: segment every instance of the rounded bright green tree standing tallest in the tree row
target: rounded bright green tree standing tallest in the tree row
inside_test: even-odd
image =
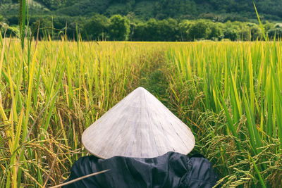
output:
[[[123,41],[128,39],[129,20],[121,15],[113,15],[110,18],[109,24],[109,38],[111,40]]]

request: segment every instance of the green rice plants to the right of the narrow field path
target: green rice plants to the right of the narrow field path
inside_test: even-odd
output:
[[[180,112],[178,116],[185,116],[188,125],[197,127],[199,136],[198,150],[207,156],[222,160],[219,174],[222,173],[226,186],[247,185],[269,186],[266,181],[268,173],[265,173],[271,165],[271,156],[259,158],[258,164],[252,161],[254,156],[262,156],[262,148],[274,143],[278,139],[279,146],[274,149],[274,155],[281,153],[281,65],[280,42],[197,42],[187,45],[173,46],[166,52],[168,68],[171,70],[171,94],[178,101]],[[189,64],[189,65],[185,65]],[[189,69],[189,70],[187,70]],[[187,75],[189,74],[189,75]],[[195,82],[195,78],[198,81]],[[178,80],[178,81],[176,81]],[[186,92],[187,84],[193,80],[196,87]],[[186,84],[185,84],[186,83]],[[190,106],[202,93],[201,103],[198,106]],[[198,99],[197,99],[198,100]],[[191,113],[192,112],[192,113]],[[195,115],[197,112],[197,115]],[[210,116],[210,113],[212,116]],[[223,112],[223,113],[222,113]],[[191,115],[194,114],[194,115]],[[219,123],[218,120],[224,114]],[[191,119],[192,118],[192,119]],[[201,121],[199,121],[202,119]],[[192,124],[191,124],[192,122]],[[212,128],[212,134],[205,133]],[[199,128],[200,127],[200,128]],[[219,128],[220,127],[220,128]],[[211,143],[220,135],[232,135],[235,137],[229,144],[233,146],[235,160],[231,167],[231,153],[224,156],[220,151],[228,151],[230,146],[222,146],[221,143],[213,144],[218,148],[216,156],[211,154],[206,143]],[[214,141],[216,142],[216,141]],[[277,140],[275,141],[277,142]],[[242,153],[242,151],[247,151]],[[250,155],[250,157],[249,157]],[[255,169],[247,182],[237,182],[233,177],[236,170],[232,166],[248,159]],[[276,160],[280,160],[276,158]],[[247,162],[247,161],[246,161]],[[224,165],[223,165],[224,164]],[[227,164],[227,165],[226,165]],[[226,168],[226,169],[222,169]],[[234,171],[235,170],[235,171]],[[237,168],[238,170],[238,168]],[[250,171],[250,167],[240,170]],[[231,172],[226,175],[226,172]],[[227,177],[232,177],[228,182]],[[259,181],[256,178],[259,177]],[[281,176],[276,175],[278,182]],[[249,177],[248,177],[249,178]],[[269,184],[270,183],[270,184]]]

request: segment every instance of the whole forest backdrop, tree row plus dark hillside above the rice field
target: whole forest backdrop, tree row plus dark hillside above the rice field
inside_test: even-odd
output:
[[[255,1],[269,37],[281,36],[282,2]],[[29,25],[40,37],[67,32],[84,40],[255,40],[262,37],[249,0],[30,0]],[[0,1],[2,35],[17,36],[18,0]],[[67,30],[66,30],[67,29]],[[32,30],[32,29],[31,29]]]

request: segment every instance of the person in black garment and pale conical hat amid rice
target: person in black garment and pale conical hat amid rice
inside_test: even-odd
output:
[[[214,187],[212,163],[195,146],[190,128],[146,89],[138,87],[82,134],[92,155],[71,168],[69,187]]]

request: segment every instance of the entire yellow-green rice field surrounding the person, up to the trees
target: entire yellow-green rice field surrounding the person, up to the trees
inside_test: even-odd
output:
[[[223,187],[282,184],[282,43],[0,40],[0,187],[49,187],[136,87],[195,134]],[[27,50],[29,49],[29,50]]]

